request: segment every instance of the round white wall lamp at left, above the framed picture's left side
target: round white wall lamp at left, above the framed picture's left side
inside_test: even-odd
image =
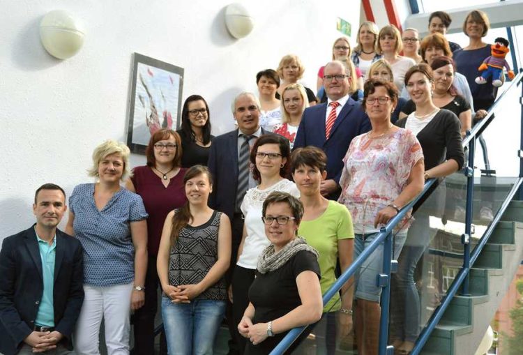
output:
[[[58,59],[68,59],[84,45],[84,25],[63,10],[47,13],[40,22],[40,40],[45,50]]]

